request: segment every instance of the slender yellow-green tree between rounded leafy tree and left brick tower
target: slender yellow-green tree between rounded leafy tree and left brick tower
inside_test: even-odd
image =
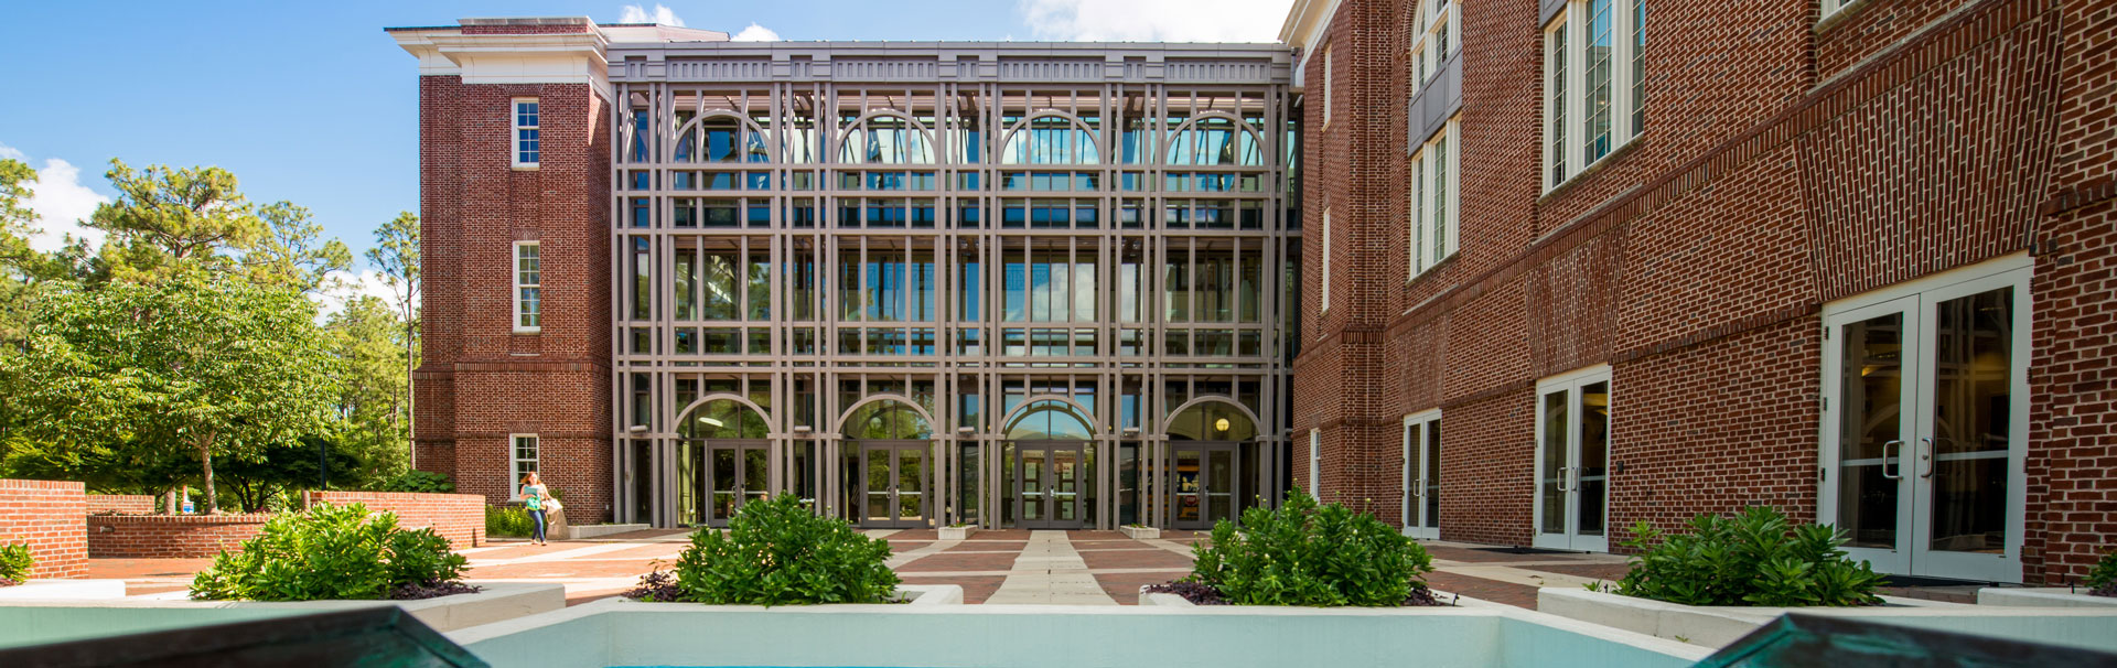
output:
[[[406,467],[404,349],[398,319],[375,296],[356,296],[324,323],[332,355],[343,364],[337,440],[362,461],[364,480],[383,480]]]

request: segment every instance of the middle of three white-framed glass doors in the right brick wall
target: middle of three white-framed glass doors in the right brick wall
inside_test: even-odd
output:
[[[1537,383],[1537,548],[1609,552],[1609,368]]]

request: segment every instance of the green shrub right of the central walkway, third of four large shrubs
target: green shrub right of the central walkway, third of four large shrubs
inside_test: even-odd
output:
[[[1279,509],[1251,507],[1243,526],[1219,520],[1211,545],[1192,545],[1192,581],[1232,605],[1397,607],[1427,600],[1427,548],[1372,514],[1317,505],[1296,488]]]

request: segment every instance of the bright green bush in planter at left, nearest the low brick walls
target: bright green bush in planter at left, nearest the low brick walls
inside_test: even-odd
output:
[[[472,590],[470,560],[432,528],[402,531],[396,514],[330,505],[279,514],[243,552],[220,552],[191,581],[197,600],[379,600]],[[474,592],[474,590],[472,590]]]

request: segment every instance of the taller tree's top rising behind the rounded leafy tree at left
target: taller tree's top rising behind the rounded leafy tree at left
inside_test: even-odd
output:
[[[224,252],[258,243],[269,224],[220,167],[133,171],[110,161],[119,199],[95,207],[87,222],[110,235],[99,262],[114,279],[165,279],[182,268],[231,268]]]

